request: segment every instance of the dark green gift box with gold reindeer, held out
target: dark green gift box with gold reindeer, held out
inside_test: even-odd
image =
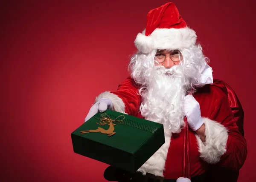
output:
[[[76,154],[136,172],[165,142],[163,124],[107,110],[71,134]]]

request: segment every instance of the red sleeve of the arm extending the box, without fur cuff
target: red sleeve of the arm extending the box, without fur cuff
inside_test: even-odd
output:
[[[111,92],[115,94],[125,104],[125,113],[136,116],[140,108],[141,96],[138,93],[139,86],[131,77],[128,77],[122,82],[116,91]]]

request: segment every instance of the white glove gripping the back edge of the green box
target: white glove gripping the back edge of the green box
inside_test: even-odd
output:
[[[98,112],[102,113],[105,112],[107,109],[113,110],[113,103],[108,98],[102,98],[98,102],[96,102],[88,112],[87,116],[84,119],[84,122],[87,122],[88,119],[93,117]]]

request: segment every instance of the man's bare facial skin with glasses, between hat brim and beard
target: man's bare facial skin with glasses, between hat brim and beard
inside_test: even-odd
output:
[[[182,61],[182,54],[178,50],[157,50],[154,60],[165,68],[172,68],[172,66],[180,64]]]

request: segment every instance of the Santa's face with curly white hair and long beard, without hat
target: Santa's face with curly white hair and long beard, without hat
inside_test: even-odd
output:
[[[191,91],[191,85],[200,79],[200,71],[205,64],[199,46],[180,51],[165,49],[135,54],[129,68],[131,76],[141,85],[142,116],[162,123],[168,133],[180,132],[184,124],[184,98]]]

